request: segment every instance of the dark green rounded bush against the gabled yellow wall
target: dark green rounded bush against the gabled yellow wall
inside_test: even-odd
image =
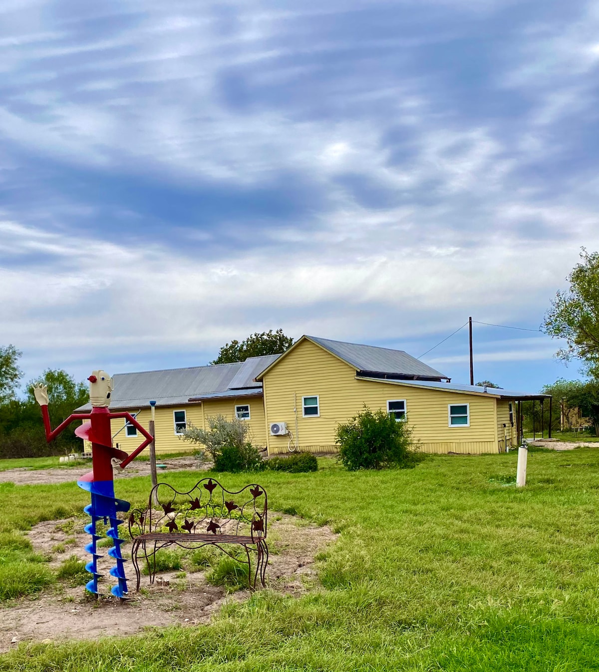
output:
[[[414,464],[412,429],[405,419],[398,421],[382,409],[365,407],[349,422],[340,423],[335,443],[343,466],[350,471]]]

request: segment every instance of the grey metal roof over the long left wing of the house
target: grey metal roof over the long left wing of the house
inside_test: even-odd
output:
[[[150,399],[156,401],[156,406],[178,406],[189,403],[189,398],[227,392],[233,383],[238,388],[261,392],[262,384],[252,380],[254,371],[266,368],[278,356],[252,357],[234,364],[115,374],[110,406],[113,409],[144,408],[149,407]],[[240,390],[231,396],[240,396]],[[89,409],[88,403],[77,410]]]

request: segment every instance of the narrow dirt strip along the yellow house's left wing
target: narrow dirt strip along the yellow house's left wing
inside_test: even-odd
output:
[[[167,460],[158,460],[159,464],[165,464],[166,469],[159,469],[158,472],[163,471],[203,471],[212,466],[208,463],[200,463],[192,456],[183,458],[168,458]],[[7,469],[0,472],[0,483],[13,482],[15,485],[53,485],[55,483],[66,483],[71,480],[78,480],[83,474],[91,471],[91,460],[89,466],[83,467],[60,467],[56,469],[38,469],[32,470],[26,467],[19,467],[17,469]],[[133,478],[134,476],[149,476],[150,475],[150,461],[139,460],[132,462],[128,467],[122,471],[114,470],[114,478]]]

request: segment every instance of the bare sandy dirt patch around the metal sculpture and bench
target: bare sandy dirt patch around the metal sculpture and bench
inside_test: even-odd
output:
[[[87,562],[89,555],[83,548],[89,542],[89,535],[83,532],[86,522],[44,521],[28,536],[35,550],[52,554],[50,566],[58,566],[71,555]],[[316,527],[291,515],[271,513],[267,538],[271,550],[267,568],[269,589],[287,595],[316,589],[314,557],[337,536],[327,526]],[[128,547],[123,546],[124,550]],[[101,548],[101,552],[104,556],[99,558],[99,571],[110,579],[108,569],[114,561],[107,556],[107,547]],[[95,639],[134,634],[148,627],[206,623],[224,601],[243,601],[250,595],[248,590],[227,595],[224,589],[206,582],[204,571],[187,571],[185,577],[177,571],[157,573],[153,585],[148,577],[142,576],[142,590],[135,593],[131,564],[127,569],[131,597],[124,603],[113,597],[97,599],[85,593],[83,587],[58,585],[2,608],[0,653],[23,640]],[[101,583],[108,594],[112,581]]]

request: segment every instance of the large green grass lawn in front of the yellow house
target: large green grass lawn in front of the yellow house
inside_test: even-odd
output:
[[[0,670],[599,670],[599,454],[532,452],[518,491],[516,458],[430,456],[412,470],[355,473],[321,460],[312,474],[221,475],[233,487],[257,478],[271,509],[341,532],[320,558],[322,591],[259,591],[210,626],[20,644]],[[196,475],[205,473],[160,477],[177,487]],[[118,497],[140,505],[147,481],[121,480]],[[33,579],[43,563],[12,531],[86,503],[75,484],[0,485],[0,532]]]

